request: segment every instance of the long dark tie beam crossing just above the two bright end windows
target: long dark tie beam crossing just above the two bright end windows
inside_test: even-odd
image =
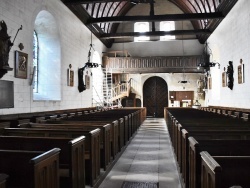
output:
[[[166,14],[153,16],[113,16],[102,18],[91,18],[87,24],[94,23],[120,23],[120,22],[157,22],[157,21],[181,21],[181,20],[203,20],[203,19],[223,19],[222,12],[214,13],[192,13],[192,14]]]

